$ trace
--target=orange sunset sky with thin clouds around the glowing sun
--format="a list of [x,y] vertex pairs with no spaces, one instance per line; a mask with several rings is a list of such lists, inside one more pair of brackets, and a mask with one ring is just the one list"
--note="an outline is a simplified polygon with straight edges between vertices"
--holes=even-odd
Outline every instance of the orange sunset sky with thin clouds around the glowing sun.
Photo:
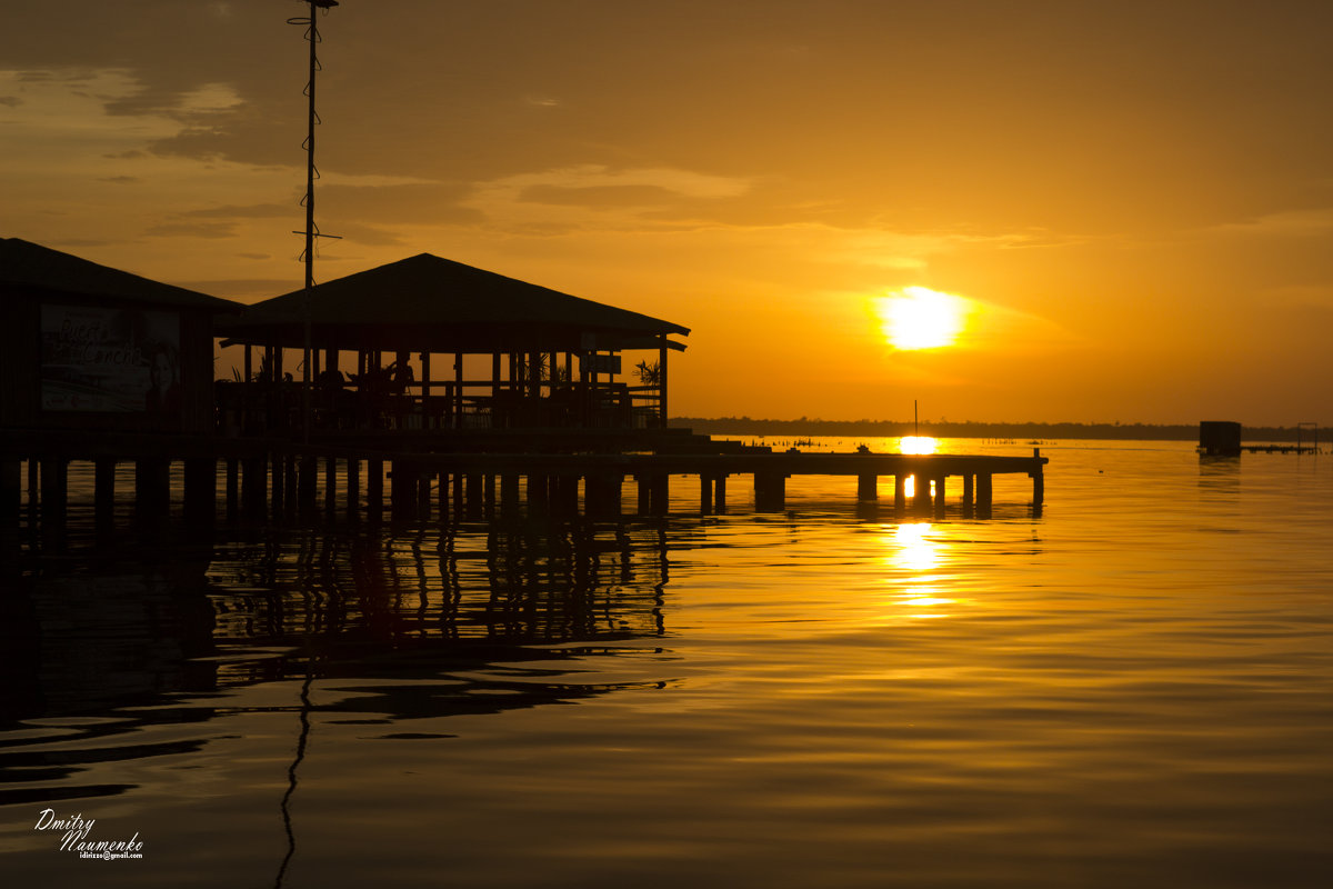
[[[243,301],[300,287],[304,11],[7,4],[0,236]],[[319,24],[343,236],[319,280],[431,252],[682,324],[674,415],[1333,421],[1333,4]],[[954,308],[948,344],[894,341],[913,295]]]

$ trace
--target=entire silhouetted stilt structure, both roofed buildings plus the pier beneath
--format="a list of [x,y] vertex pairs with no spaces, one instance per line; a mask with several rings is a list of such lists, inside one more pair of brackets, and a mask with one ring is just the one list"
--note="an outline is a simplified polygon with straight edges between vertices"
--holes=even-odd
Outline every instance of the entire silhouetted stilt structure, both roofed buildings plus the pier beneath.
[[[964,514],[986,516],[992,477],[1021,473],[1042,504],[1036,452],[772,453],[668,428],[668,359],[688,328],[431,255],[319,285],[308,304],[297,291],[241,307],[25,241],[4,249],[7,553],[24,514],[43,529],[31,540],[59,536],[71,462],[93,466],[105,528],[117,465],[133,465],[148,529],[173,514],[185,529],[220,516],[615,517],[631,510],[631,478],[632,512],[663,514],[670,476],[698,480],[702,513],[728,508],[733,476],[753,478],[757,510],[784,509],[797,474],[856,476],[862,502],[893,476],[897,510],[936,516],[954,477]],[[307,329],[308,388],[292,360]],[[212,380],[215,339],[243,349],[232,380]]]

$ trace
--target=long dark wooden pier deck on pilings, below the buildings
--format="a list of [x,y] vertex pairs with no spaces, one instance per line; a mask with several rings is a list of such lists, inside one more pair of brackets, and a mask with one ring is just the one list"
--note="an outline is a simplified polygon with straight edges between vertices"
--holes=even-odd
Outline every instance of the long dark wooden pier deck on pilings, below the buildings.
[[[0,525],[8,541],[19,540],[25,513],[29,529],[40,526],[40,538],[59,537],[71,505],[69,466],[75,462],[91,464],[99,530],[111,529],[117,502],[129,498],[116,484],[117,466],[131,464],[135,524],[148,530],[171,524],[189,532],[209,529],[219,518],[229,524],[288,517],[480,520],[520,506],[592,518],[661,516],[668,512],[672,476],[697,480],[698,514],[726,512],[740,486],[730,484],[736,478],[750,482],[756,512],[782,512],[789,478],[848,476],[857,480],[848,493],[858,502],[877,501],[880,478],[892,477],[893,506],[900,513],[942,517],[946,498],[957,490],[962,514],[984,518],[992,509],[993,477],[1020,473],[1032,480],[1030,502],[1040,514],[1046,458],[1038,450],[1028,457],[744,448],[733,453],[437,453],[263,439],[31,432],[9,435],[0,445]],[[635,497],[628,504],[627,482]],[[87,498],[88,492],[81,496]]]

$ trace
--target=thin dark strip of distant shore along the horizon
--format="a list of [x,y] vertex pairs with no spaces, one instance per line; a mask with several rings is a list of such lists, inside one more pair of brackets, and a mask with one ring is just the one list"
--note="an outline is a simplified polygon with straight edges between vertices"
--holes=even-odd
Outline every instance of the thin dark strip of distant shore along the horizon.
[[[892,439],[913,435],[912,423],[890,420],[754,420],[750,417],[672,417],[673,428],[701,435],[742,436],[844,436]],[[1125,441],[1198,441],[1198,424],[1148,423],[922,423],[921,435],[936,439],[1101,439]],[[1316,431],[1302,428],[1300,437],[1313,440]],[[1244,441],[1296,441],[1294,427],[1242,427]],[[1320,441],[1333,441],[1333,429],[1318,429]]]

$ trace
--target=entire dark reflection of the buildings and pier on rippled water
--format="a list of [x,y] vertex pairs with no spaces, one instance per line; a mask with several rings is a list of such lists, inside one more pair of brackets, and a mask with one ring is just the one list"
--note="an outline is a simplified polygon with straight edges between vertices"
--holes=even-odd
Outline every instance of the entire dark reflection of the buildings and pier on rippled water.
[[[293,692],[259,709],[431,738],[449,734],[404,721],[657,684],[584,682],[563,665],[665,632],[661,522],[288,529],[173,554],[81,554],[7,586],[0,725],[28,728],[0,750],[0,805],[127,793],[107,764],[225,746],[205,724],[244,710],[217,697],[228,688],[313,681],[313,702]],[[185,724],[199,729],[183,737]],[[153,740],[159,725],[171,741]]]

